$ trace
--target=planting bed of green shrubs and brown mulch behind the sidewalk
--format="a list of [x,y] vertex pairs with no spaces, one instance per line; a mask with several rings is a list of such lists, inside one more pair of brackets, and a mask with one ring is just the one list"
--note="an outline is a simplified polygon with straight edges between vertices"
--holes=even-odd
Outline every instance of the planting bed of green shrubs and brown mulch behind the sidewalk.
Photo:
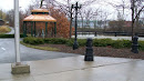
[[[56,48],[60,52],[68,53],[85,53],[86,39],[78,39],[79,49],[73,50],[74,39],[62,39],[62,38],[24,38],[23,42],[37,47],[51,47]],[[93,39],[93,53],[100,57],[116,57],[116,58],[133,58],[144,59],[144,41],[138,41],[138,53],[131,52],[130,40],[111,40],[111,39]]]

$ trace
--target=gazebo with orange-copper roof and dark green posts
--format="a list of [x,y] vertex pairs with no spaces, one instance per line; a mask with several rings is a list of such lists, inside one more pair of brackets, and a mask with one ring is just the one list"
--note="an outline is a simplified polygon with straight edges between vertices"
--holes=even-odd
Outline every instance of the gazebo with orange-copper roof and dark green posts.
[[[27,37],[28,24],[31,27],[31,37],[35,37],[38,34],[37,29],[41,28],[38,27],[40,22],[44,26],[42,29],[45,29],[45,37],[48,37],[48,30],[51,31],[54,37],[56,36],[56,20],[49,14],[47,9],[34,9],[31,10],[31,16],[23,19],[23,37]],[[54,23],[54,26],[51,29],[48,29],[48,23]]]

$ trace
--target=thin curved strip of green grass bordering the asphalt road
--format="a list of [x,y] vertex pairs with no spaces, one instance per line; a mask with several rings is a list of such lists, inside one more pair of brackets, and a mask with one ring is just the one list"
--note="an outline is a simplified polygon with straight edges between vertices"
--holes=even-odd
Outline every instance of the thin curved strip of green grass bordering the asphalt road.
[[20,43],[28,47],[28,48],[33,48],[33,49],[39,49],[39,50],[47,50],[47,51],[59,51],[59,49],[56,49],[56,48],[31,45],[31,44],[27,44],[27,43],[24,43],[22,41],[20,41]]

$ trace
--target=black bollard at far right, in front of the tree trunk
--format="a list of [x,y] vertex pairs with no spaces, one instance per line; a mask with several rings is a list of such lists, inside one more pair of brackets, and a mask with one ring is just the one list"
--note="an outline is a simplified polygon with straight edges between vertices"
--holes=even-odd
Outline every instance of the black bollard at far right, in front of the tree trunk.
[[133,37],[133,43],[132,43],[132,50],[131,51],[134,52],[134,53],[138,53],[138,37],[137,37],[137,34],[135,34]]

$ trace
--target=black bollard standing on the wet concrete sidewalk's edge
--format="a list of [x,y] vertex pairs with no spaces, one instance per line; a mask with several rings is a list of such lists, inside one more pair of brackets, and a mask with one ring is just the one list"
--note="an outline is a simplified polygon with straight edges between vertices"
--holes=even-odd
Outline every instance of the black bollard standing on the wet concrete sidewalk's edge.
[[88,38],[84,61],[93,61],[92,39]]

